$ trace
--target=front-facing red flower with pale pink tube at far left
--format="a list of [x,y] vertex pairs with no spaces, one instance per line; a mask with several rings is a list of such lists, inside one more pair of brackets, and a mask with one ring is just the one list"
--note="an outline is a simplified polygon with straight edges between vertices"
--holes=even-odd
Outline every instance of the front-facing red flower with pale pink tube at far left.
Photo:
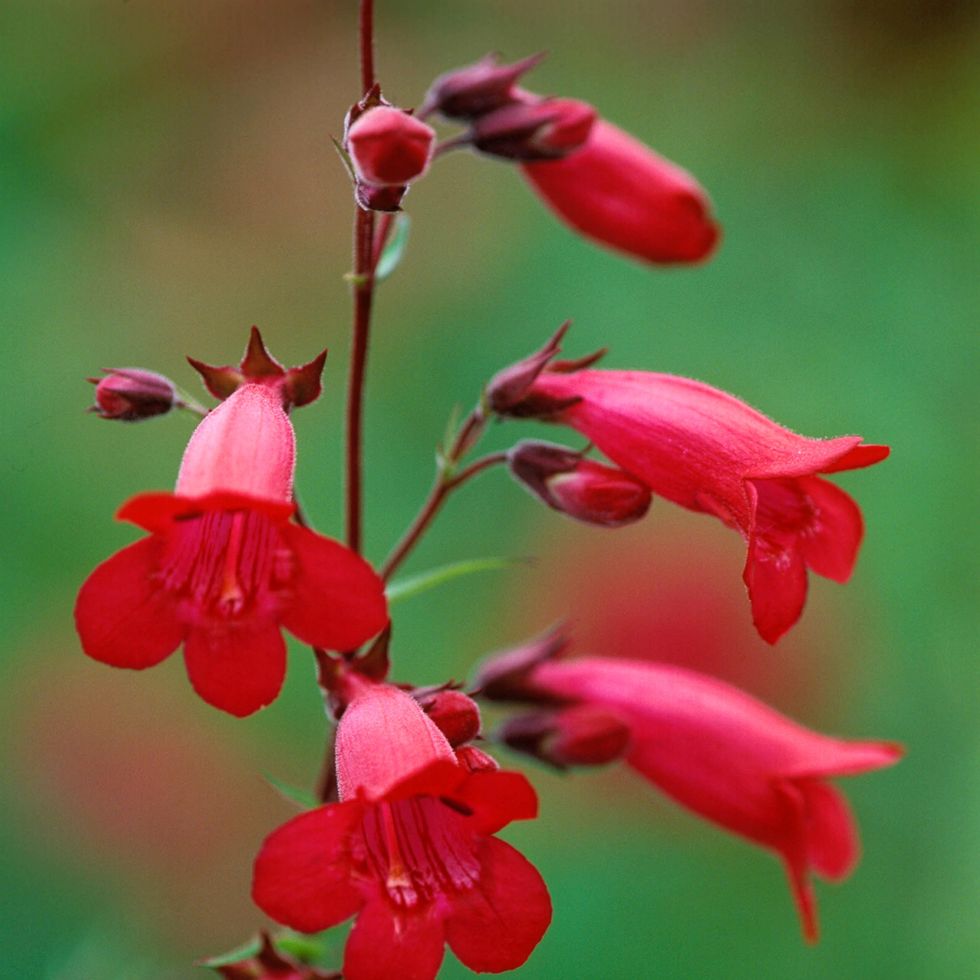
[[119,519],[150,537],[82,585],[75,624],[90,657],[142,669],[183,643],[198,694],[244,716],[282,686],[280,627],[329,649],[384,627],[384,586],[371,567],[289,523],[295,444],[282,406],[277,384],[242,384],[194,431],[176,492],[123,505]]

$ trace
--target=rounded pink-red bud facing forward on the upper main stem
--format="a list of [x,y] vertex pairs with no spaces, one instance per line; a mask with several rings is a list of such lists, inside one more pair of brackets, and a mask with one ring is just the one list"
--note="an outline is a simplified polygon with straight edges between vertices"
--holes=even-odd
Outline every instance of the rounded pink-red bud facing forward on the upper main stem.
[[431,126],[409,113],[378,105],[351,123],[347,152],[361,181],[375,187],[397,187],[425,173],[435,138]]

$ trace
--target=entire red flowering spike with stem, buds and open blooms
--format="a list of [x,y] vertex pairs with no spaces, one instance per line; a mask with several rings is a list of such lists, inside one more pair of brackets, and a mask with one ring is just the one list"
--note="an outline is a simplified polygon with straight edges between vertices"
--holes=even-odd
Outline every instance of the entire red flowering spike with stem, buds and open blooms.
[[[861,511],[827,477],[878,463],[889,450],[856,435],[797,435],[700,381],[597,367],[602,351],[560,360],[565,324],[493,375],[476,408],[450,427],[430,497],[376,571],[360,554],[373,290],[404,248],[402,241],[392,254],[391,212],[441,154],[469,147],[514,165],[566,224],[646,262],[701,261],[719,230],[706,193],[684,170],[591,105],[520,87],[539,56],[513,64],[489,56],[447,72],[414,112],[382,95],[370,40],[362,38],[363,95],[338,143],[356,204],[347,544],[308,526],[293,486],[290,413],[320,395],[325,351],[287,370],[253,328],[240,363],[191,359],[218,402],[210,410],[155,372],[105,371],[91,379],[93,411],[103,418],[137,421],[178,409],[202,418],[174,492],[143,493],[119,510],[147,536],[82,585],[75,606],[82,648],[103,663],[143,669],[183,646],[197,694],[236,716],[278,695],[283,630],[312,648],[335,725],[319,804],[266,838],[252,896],[271,919],[300,932],[354,919],[347,980],[432,980],[446,946],[476,972],[512,970],[541,940],[551,920],[547,888],[497,836],[536,818],[538,801],[523,775],[500,769],[487,751],[494,745],[563,770],[622,760],[683,807],[774,852],[804,935],[815,941],[811,875],[840,880],[858,858],[855,819],[829,780],[891,765],[897,746],[818,734],[680,667],[602,650],[569,657],[561,631],[487,659],[466,690],[396,684],[388,601],[400,583],[388,580],[446,497],[500,464],[551,510],[604,532],[645,518],[656,498],[718,518],[745,541],[752,621],[775,643],[802,614],[809,571],[845,582],[857,560]],[[438,142],[427,122],[433,116],[465,128]],[[376,212],[384,212],[377,224]],[[504,419],[549,423],[588,445],[522,439],[469,460],[490,422]],[[439,570],[409,584],[419,591],[457,573]],[[648,639],[638,637],[638,646]],[[503,713],[489,733],[480,700]],[[241,956],[205,965],[236,978],[338,975],[265,934]]]

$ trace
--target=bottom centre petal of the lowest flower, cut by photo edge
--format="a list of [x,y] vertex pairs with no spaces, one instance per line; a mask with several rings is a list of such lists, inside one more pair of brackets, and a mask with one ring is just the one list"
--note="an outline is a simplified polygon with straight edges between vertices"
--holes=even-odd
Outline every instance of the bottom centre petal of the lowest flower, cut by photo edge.
[[345,980],[433,980],[445,954],[432,905],[396,912],[376,896],[365,905],[344,952]]

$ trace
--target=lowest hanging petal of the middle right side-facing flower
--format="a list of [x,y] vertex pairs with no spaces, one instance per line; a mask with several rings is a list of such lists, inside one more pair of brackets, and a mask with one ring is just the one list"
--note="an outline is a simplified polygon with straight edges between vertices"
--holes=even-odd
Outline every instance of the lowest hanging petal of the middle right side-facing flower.
[[806,602],[806,563],[796,535],[753,535],[742,580],[755,628],[767,643],[775,643],[800,618]]

